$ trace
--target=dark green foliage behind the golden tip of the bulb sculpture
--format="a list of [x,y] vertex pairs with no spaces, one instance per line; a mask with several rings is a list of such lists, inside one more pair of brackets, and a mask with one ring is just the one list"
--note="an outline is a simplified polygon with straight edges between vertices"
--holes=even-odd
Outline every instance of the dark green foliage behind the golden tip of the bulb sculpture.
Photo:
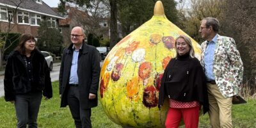
[[[163,0],[166,17],[172,22],[177,21],[176,3],[173,0]],[[118,3],[118,17],[122,23],[122,32],[128,35],[154,15],[156,1],[126,0]]]

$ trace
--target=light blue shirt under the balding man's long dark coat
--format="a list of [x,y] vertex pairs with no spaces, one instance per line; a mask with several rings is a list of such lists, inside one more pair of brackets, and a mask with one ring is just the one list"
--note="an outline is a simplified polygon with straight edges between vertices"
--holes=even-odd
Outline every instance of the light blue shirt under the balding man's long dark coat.
[[71,70],[70,70],[69,84],[78,84],[77,62],[78,62],[79,50],[76,50],[74,48],[74,45],[73,45],[73,49],[74,49],[74,52],[73,52]]

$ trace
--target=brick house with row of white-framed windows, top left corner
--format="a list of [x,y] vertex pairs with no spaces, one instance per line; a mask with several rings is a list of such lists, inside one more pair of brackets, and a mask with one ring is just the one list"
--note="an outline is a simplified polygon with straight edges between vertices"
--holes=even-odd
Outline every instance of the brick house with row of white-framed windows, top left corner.
[[42,0],[0,0],[0,32],[2,33],[8,31],[10,21],[10,33],[31,33],[37,37],[40,22],[47,20],[51,28],[58,28],[60,19],[64,18]]

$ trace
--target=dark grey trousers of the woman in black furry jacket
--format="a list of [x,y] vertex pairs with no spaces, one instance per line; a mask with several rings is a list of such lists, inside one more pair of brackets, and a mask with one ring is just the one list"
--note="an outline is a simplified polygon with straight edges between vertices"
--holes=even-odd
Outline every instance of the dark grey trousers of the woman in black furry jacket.
[[42,92],[31,92],[15,96],[15,111],[17,116],[17,127],[37,127],[37,115],[42,100]]

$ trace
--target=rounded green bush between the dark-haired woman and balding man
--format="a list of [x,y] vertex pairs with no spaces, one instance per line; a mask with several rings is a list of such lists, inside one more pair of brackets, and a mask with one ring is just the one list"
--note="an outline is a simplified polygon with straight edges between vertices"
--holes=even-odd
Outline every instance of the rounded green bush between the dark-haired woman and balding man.
[[41,51],[49,51],[56,56],[61,56],[63,36],[56,28],[47,27],[47,22],[41,22],[38,28],[37,47]]

